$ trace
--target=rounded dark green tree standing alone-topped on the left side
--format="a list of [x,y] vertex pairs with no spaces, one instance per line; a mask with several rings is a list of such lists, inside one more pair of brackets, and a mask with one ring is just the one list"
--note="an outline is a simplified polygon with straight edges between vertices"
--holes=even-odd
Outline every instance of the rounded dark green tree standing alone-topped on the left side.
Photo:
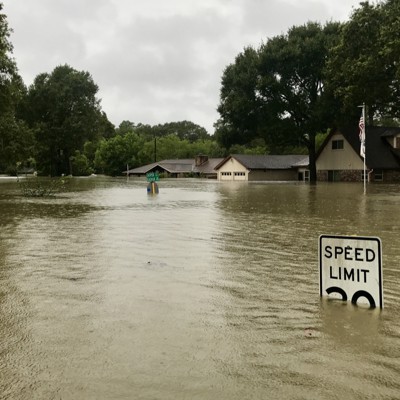
[[96,98],[98,87],[88,72],[68,65],[38,75],[26,96],[24,115],[35,130],[41,171],[69,173],[70,157],[110,130]]

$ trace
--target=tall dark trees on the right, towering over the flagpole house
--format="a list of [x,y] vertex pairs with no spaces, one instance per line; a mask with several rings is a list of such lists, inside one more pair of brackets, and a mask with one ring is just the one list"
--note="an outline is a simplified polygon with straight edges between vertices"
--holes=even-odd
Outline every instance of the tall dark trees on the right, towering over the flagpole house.
[[319,134],[400,117],[400,1],[362,2],[346,23],[308,22],[247,47],[222,76],[219,143],[264,140],[271,152],[304,146],[316,180]]

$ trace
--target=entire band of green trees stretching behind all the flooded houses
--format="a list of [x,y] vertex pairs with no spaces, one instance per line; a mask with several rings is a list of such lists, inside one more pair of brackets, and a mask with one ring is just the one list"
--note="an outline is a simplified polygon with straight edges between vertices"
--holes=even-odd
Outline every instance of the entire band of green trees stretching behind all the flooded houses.
[[89,72],[59,65],[26,87],[12,57],[0,3],[0,173],[119,175],[161,159],[229,153],[308,153],[329,129],[400,117],[400,2],[362,2],[345,23],[308,22],[246,47],[222,74],[219,119],[210,135],[190,121],[155,126],[102,110]]

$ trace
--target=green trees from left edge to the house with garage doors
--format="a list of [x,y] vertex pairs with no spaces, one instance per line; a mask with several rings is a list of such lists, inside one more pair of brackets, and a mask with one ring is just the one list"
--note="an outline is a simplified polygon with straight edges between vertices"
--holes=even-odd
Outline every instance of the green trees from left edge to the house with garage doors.
[[125,120],[115,127],[90,73],[69,65],[39,74],[26,87],[1,10],[0,3],[0,173],[120,175],[127,165],[156,159],[224,154],[205,128],[190,121],[151,126]]

